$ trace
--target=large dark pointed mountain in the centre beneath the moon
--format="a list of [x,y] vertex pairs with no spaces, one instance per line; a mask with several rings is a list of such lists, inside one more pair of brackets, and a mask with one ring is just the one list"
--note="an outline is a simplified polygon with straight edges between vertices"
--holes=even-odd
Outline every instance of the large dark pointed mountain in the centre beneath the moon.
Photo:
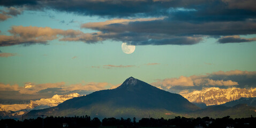
[[57,107],[32,110],[29,115],[92,117],[174,117],[176,113],[198,110],[182,95],[170,93],[133,77],[112,90],[101,90],[66,100]]

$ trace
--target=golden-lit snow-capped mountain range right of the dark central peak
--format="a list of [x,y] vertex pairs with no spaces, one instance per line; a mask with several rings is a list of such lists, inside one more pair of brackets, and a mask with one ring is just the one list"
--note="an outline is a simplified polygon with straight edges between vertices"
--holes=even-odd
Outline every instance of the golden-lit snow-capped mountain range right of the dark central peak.
[[255,89],[240,89],[232,87],[230,89],[220,89],[219,87],[209,87],[201,91],[193,91],[191,93],[180,94],[190,102],[203,102],[207,106],[221,105],[223,103],[240,99],[242,97],[256,97]]

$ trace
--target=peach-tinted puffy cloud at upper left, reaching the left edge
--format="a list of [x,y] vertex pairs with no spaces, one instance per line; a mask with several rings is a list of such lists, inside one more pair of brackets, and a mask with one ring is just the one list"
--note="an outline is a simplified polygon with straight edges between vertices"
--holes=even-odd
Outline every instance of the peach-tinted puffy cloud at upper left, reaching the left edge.
[[85,43],[102,41],[95,33],[86,34],[80,30],[62,30],[50,27],[12,26],[9,33],[11,36],[0,35],[0,46],[47,44],[48,41],[57,38],[59,38],[59,41],[81,41]]

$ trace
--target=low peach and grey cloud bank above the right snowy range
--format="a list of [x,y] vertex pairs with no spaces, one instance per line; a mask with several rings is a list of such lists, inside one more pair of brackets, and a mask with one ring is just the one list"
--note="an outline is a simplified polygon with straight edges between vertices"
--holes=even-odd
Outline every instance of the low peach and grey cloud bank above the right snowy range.
[[161,87],[164,90],[179,93],[182,91],[191,92],[201,90],[204,87],[228,87],[255,88],[256,71],[217,71],[206,75],[192,75],[189,77],[159,79],[152,85]]

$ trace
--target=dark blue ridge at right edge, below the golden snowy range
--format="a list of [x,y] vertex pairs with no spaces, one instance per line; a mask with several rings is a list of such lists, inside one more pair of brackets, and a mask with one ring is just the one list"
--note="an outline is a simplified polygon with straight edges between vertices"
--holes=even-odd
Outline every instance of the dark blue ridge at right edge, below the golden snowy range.
[[232,107],[232,106],[236,106],[239,104],[246,104],[248,106],[256,107],[256,97],[255,98],[240,98],[238,100],[226,102],[223,104],[223,106]]

